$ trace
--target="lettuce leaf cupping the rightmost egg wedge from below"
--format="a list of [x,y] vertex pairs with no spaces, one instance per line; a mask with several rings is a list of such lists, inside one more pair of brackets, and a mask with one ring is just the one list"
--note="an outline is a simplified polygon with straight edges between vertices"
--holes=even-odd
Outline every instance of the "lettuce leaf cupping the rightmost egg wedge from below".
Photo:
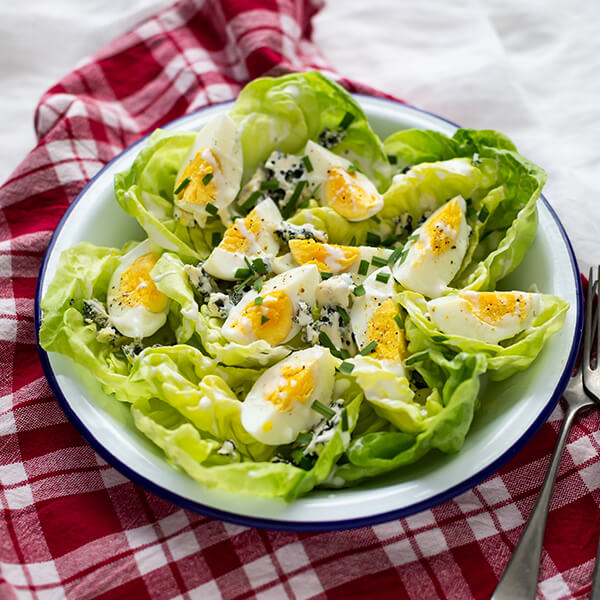
[[[546,340],[556,333],[565,321],[568,302],[551,294],[541,295],[539,313],[530,327],[501,344],[488,344],[458,335],[441,332],[427,318],[427,302],[414,292],[398,294],[398,301],[408,313],[405,321],[406,337],[411,352],[429,351],[432,348],[451,348],[455,352],[467,352],[485,357],[491,380],[506,379],[526,369],[540,353]],[[443,342],[434,341],[442,336]]]

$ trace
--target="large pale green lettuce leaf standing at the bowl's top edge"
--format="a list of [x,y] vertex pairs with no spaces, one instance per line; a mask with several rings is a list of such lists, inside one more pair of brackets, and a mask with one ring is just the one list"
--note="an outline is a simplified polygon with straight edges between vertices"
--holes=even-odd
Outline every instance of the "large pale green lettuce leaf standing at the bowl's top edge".
[[230,115],[241,131],[244,180],[273,150],[298,153],[324,129],[338,130],[346,114],[352,121],[332,151],[355,163],[380,191],[386,189],[390,165],[381,140],[358,102],[317,71],[262,77],[240,92]]

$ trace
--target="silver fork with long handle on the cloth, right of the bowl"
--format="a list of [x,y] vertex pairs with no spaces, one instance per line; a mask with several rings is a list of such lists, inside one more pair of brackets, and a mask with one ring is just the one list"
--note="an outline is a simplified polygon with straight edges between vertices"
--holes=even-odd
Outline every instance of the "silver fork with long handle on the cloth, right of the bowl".
[[[600,277],[600,267],[598,267],[598,277]],[[585,307],[583,354],[577,372],[569,380],[567,389],[563,394],[563,398],[567,401],[567,410],[556,448],[552,454],[550,467],[546,473],[542,490],[523,531],[523,535],[492,595],[492,600],[535,598],[540,571],[542,543],[546,529],[546,517],[548,516],[548,508],[552,499],[554,480],[560,466],[560,459],[565,443],[569,437],[571,425],[580,410],[596,404],[600,406],[600,370],[598,368],[592,369],[591,359],[594,330],[600,332],[598,310],[594,311],[592,307],[594,294],[598,287],[598,277],[594,279],[593,269],[590,269]],[[598,353],[600,350],[600,335],[596,335],[596,338],[596,353]],[[596,564],[594,572],[595,581],[592,586],[593,600],[600,600],[599,570],[600,567]],[[594,590],[596,590],[597,596],[594,596]]]

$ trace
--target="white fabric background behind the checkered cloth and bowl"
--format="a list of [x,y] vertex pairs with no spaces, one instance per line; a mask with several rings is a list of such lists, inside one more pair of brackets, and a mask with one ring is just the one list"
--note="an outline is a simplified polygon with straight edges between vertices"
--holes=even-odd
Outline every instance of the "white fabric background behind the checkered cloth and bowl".
[[[40,95],[169,3],[0,3],[0,181],[35,143]],[[548,172],[580,267],[600,262],[600,2],[328,0],[315,40],[347,77],[509,135]]]

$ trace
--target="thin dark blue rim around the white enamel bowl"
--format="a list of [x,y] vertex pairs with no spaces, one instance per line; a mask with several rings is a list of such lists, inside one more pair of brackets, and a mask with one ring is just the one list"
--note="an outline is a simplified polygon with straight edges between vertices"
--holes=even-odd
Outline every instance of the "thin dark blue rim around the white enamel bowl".
[[[456,123],[453,123],[449,119],[446,119],[446,118],[441,117],[433,112],[430,112],[430,111],[422,109],[422,108],[418,108],[416,106],[413,106],[413,105],[405,103],[405,102],[396,102],[389,98],[380,98],[380,97],[376,97],[376,96],[369,96],[366,94],[352,94],[352,95],[354,97],[366,98],[369,100],[388,102],[392,105],[400,105],[400,106],[403,106],[410,110],[414,110],[416,112],[429,115],[431,117],[439,119],[440,121],[444,121],[444,122],[452,125],[453,127],[459,127]],[[232,100],[227,100],[225,102],[215,103],[215,104],[211,104],[209,106],[205,106],[197,111],[194,111],[192,113],[189,113],[189,114],[183,115],[182,117],[174,119],[173,121],[170,121],[169,123],[165,124],[165,126],[174,125],[181,120],[189,118],[191,115],[198,114],[209,108],[224,106],[224,105],[232,104],[232,103],[233,103]],[[108,448],[106,446],[104,446],[100,441],[98,441],[96,439],[94,434],[84,425],[84,423],[81,421],[81,419],[73,411],[73,409],[69,405],[67,398],[63,394],[63,392],[60,388],[60,385],[58,384],[58,381],[52,370],[52,366],[50,365],[50,359],[48,357],[48,353],[40,346],[39,328],[40,328],[40,324],[41,324],[41,320],[42,320],[41,285],[42,285],[42,281],[44,280],[44,277],[46,274],[46,269],[48,267],[48,262],[49,262],[51,254],[52,254],[52,250],[54,248],[56,240],[58,238],[58,235],[60,234],[62,228],[65,226],[65,224],[69,218],[69,215],[70,215],[71,211],[74,209],[74,207],[76,206],[76,204],[78,202],[80,202],[81,199],[85,196],[88,188],[96,181],[96,179],[98,179],[104,173],[104,171],[106,169],[108,169],[118,158],[120,158],[121,155],[132,150],[136,146],[143,144],[144,141],[146,141],[150,135],[151,134],[149,133],[149,134],[143,136],[137,142],[134,142],[133,144],[131,144],[130,146],[125,148],[122,152],[117,154],[110,162],[108,162],[106,165],[104,165],[104,167],[102,167],[102,169],[100,169],[100,171],[98,171],[98,173],[96,173],[96,175],[94,175],[94,177],[84,186],[84,188],[81,190],[81,192],[79,192],[77,197],[70,204],[70,206],[66,210],[65,214],[62,216],[61,220],[59,221],[59,223],[56,227],[56,230],[52,234],[52,237],[50,238],[50,242],[48,244],[48,248],[46,249],[46,252],[44,254],[44,258],[42,260],[42,265],[40,267],[38,281],[36,284],[35,303],[34,303],[34,327],[35,327],[35,337],[36,337],[36,345],[37,345],[37,349],[38,349],[38,354],[39,354],[40,362],[42,364],[42,369],[44,371],[44,375],[46,376],[48,384],[50,385],[50,389],[52,390],[54,396],[56,397],[56,400],[57,400],[59,406],[61,407],[61,409],[63,410],[63,412],[69,419],[69,421],[71,422],[71,424],[75,427],[75,429],[79,432],[79,434],[86,440],[86,442],[94,449],[94,451],[96,451],[108,464],[110,464],[112,467],[117,469],[121,474],[123,474],[125,477],[130,479],[133,483],[142,486],[143,488],[152,492],[153,494],[156,494],[160,498],[162,498],[164,500],[168,500],[169,502],[172,502],[173,504],[180,506],[184,509],[191,510],[195,513],[199,513],[199,514],[202,514],[204,516],[207,516],[207,517],[210,517],[213,519],[219,519],[221,521],[234,523],[236,525],[243,525],[246,527],[258,527],[261,529],[269,529],[269,530],[276,530],[276,531],[295,531],[295,532],[323,532],[323,531],[356,529],[356,528],[360,528],[360,527],[377,525],[379,523],[384,523],[387,521],[392,521],[394,519],[400,519],[400,518],[404,518],[404,517],[416,514],[418,512],[427,510],[429,508],[433,508],[434,506],[437,506],[439,504],[442,504],[443,502],[451,500],[452,498],[458,496],[462,492],[464,492],[468,489],[471,489],[475,485],[481,483],[488,476],[490,476],[493,473],[495,473],[496,471],[498,471],[509,460],[514,458],[523,449],[523,447],[531,440],[531,438],[538,432],[538,430],[541,428],[541,426],[546,422],[546,420],[548,419],[548,417],[554,410],[554,407],[560,400],[560,398],[567,386],[568,380],[571,376],[571,372],[573,371],[573,367],[575,365],[575,360],[577,358],[577,354],[579,352],[579,345],[581,343],[581,336],[582,336],[582,331],[583,331],[583,288],[582,288],[582,283],[581,283],[580,271],[579,271],[579,267],[577,264],[577,259],[575,257],[575,252],[573,251],[573,246],[571,245],[571,241],[569,240],[569,236],[567,235],[567,232],[566,232],[563,224],[561,223],[560,219],[558,218],[558,215],[556,214],[556,212],[554,211],[554,209],[552,208],[552,206],[550,205],[550,203],[548,202],[546,197],[543,194],[541,194],[540,199],[542,200],[542,202],[548,209],[550,215],[556,222],[556,225],[558,226],[561,236],[566,243],[567,250],[569,253],[569,258],[571,261],[571,267],[572,267],[573,274],[574,274],[576,294],[577,294],[577,306],[576,306],[577,314],[576,314],[576,323],[575,323],[575,335],[573,338],[573,342],[571,344],[569,358],[565,362],[565,367],[564,367],[563,373],[558,381],[558,384],[554,390],[554,393],[552,394],[552,396],[546,403],[545,408],[540,412],[537,419],[523,433],[523,435],[517,440],[517,442],[515,442],[508,450],[506,450],[506,452],[504,452],[502,455],[500,455],[496,460],[494,460],[492,463],[490,463],[487,467],[479,470],[477,473],[471,475],[470,477],[461,481],[460,483],[456,484],[455,486],[448,488],[444,492],[441,492],[439,494],[436,494],[435,496],[431,496],[430,498],[427,498],[426,500],[423,500],[421,502],[416,502],[414,504],[405,506],[400,509],[387,511],[387,512],[379,513],[376,515],[370,515],[368,517],[360,517],[360,518],[356,518],[356,519],[318,521],[318,522],[280,521],[277,519],[264,519],[264,518],[260,518],[260,517],[249,517],[249,516],[239,515],[236,513],[231,513],[228,511],[219,510],[219,509],[216,509],[216,508],[213,508],[210,506],[206,506],[200,502],[195,502],[193,500],[189,500],[188,498],[180,496],[179,494],[176,494],[176,493],[156,484],[151,479],[148,479],[147,477],[140,475],[137,471],[134,471],[131,467],[129,467],[127,464],[125,464],[119,458],[117,458],[114,454],[112,454],[112,452],[110,452],[110,450],[108,450]]]

